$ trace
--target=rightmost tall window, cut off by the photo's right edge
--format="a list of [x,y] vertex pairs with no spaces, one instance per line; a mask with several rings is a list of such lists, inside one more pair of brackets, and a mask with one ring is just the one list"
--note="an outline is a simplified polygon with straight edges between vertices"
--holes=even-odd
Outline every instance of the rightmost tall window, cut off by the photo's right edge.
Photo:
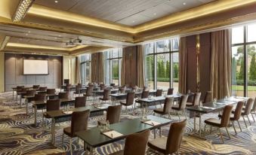
[[256,94],[256,23],[232,29],[232,94]]

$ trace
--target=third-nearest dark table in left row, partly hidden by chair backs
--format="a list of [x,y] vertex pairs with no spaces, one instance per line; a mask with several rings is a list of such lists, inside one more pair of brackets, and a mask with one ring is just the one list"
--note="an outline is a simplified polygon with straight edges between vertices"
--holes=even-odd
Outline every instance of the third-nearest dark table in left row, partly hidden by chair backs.
[[[73,105],[74,103],[75,103],[75,99],[60,99],[60,106],[61,105]],[[32,101],[32,107],[34,108],[34,117],[35,117],[34,124],[35,124],[35,126],[37,126],[37,109],[45,108],[46,101]]]

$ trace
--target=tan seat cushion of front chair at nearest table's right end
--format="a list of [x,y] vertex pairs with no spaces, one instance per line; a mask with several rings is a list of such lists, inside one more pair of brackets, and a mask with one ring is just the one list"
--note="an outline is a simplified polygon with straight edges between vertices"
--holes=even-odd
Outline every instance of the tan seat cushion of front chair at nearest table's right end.
[[161,137],[153,139],[147,143],[147,146],[153,150],[157,150],[160,153],[165,153],[166,150],[167,137]]

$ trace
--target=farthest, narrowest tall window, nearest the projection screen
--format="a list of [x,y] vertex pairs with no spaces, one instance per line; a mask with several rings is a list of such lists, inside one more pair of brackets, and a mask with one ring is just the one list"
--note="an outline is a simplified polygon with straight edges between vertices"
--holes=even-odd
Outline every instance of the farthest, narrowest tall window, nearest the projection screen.
[[91,78],[91,54],[80,56],[81,83],[88,84]]

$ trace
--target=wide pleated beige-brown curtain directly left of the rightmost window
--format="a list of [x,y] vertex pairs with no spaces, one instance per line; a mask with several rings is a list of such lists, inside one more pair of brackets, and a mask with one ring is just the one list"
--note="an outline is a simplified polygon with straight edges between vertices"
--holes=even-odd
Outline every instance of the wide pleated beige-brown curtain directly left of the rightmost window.
[[211,33],[211,92],[221,99],[231,93],[230,29]]

